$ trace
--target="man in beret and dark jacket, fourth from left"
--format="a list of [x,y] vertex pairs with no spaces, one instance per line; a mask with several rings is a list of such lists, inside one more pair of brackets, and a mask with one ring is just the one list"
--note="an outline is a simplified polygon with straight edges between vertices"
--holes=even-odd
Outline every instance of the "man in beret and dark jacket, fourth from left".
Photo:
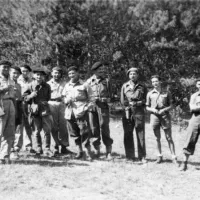
[[51,88],[45,83],[44,70],[37,68],[34,71],[35,80],[32,81],[24,92],[24,100],[30,103],[29,116],[30,124],[33,127],[34,137],[36,138],[36,154],[43,153],[41,131],[44,132],[44,155],[52,156],[50,151],[52,116],[48,101],[51,99]]

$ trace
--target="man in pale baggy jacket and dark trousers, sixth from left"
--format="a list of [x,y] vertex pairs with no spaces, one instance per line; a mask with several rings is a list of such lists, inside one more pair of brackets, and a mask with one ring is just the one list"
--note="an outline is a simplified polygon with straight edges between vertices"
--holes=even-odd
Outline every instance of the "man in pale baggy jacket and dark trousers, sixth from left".
[[84,143],[86,158],[91,160],[88,89],[80,80],[76,66],[69,67],[68,76],[70,81],[65,85],[62,92],[66,104],[65,119],[67,120],[67,129],[70,136],[75,138],[75,143],[78,146],[78,154],[75,158],[83,158],[82,145]]

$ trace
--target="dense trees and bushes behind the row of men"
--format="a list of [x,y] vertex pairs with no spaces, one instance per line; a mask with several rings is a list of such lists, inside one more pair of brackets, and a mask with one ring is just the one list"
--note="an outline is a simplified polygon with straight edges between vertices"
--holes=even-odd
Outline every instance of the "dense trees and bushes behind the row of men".
[[200,75],[198,1],[0,0],[0,57],[15,65],[77,64],[90,76],[98,60],[110,63],[115,92],[135,66],[141,80],[159,74],[184,105],[193,87],[183,78]]

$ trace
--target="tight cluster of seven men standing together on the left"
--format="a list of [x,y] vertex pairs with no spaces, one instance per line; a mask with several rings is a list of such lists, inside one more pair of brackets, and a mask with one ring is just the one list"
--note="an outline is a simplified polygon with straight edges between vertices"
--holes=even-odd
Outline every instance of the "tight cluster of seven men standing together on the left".
[[[62,78],[62,69],[54,67],[52,78],[46,82],[46,73],[41,68],[34,69],[30,77],[32,70],[28,65],[19,68],[8,61],[0,62],[0,162],[9,163],[11,152],[17,157],[23,143],[27,151],[37,155],[71,153],[67,149],[69,135],[75,138],[78,147],[75,158],[85,156],[83,145],[87,159],[92,159],[91,145],[99,157],[102,138],[106,158],[111,159],[113,140],[108,107],[111,88],[105,78],[106,68],[101,62],[95,63],[93,76],[84,83],[76,66],[68,68],[69,82]],[[55,142],[53,151],[50,150],[51,135]]]

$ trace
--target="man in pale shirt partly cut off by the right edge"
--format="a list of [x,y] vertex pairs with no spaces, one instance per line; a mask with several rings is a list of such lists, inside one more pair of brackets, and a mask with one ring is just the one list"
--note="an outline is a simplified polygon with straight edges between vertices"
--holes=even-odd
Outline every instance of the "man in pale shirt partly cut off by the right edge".
[[184,162],[181,166],[181,170],[187,170],[188,159],[194,154],[196,143],[200,134],[200,79],[196,80],[197,92],[191,95],[190,98],[190,110],[192,112],[192,118],[190,119],[187,129],[187,140],[183,148]]

